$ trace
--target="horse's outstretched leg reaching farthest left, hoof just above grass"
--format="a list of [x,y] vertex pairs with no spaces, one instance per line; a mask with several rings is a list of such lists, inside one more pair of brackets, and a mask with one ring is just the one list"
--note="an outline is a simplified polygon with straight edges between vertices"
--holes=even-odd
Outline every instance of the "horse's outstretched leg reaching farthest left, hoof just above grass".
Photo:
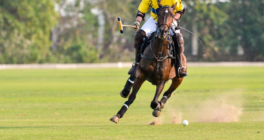
[[119,112],[117,112],[116,115],[114,115],[110,120],[112,122],[118,123],[119,119],[123,117],[125,112],[128,110],[129,106],[134,102],[136,99],[136,94],[138,93],[139,88],[144,83],[145,79],[137,79],[133,85],[132,92],[130,96],[128,97],[128,100],[125,102],[125,104],[121,107]]

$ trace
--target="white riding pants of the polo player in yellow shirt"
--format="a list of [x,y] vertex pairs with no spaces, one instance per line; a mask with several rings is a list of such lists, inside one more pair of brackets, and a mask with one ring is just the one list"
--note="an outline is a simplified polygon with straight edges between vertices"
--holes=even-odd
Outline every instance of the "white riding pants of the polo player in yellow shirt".
[[[172,23],[172,28],[174,29],[177,26],[177,21],[174,21],[174,24]],[[144,30],[146,32],[147,37],[150,36],[151,33],[156,31],[157,27],[157,21],[153,19],[153,17],[150,17],[148,21],[144,23],[144,25],[141,27],[141,30]],[[173,32],[169,30],[169,33],[171,36],[173,36]],[[180,30],[176,30],[176,33],[180,33]]]

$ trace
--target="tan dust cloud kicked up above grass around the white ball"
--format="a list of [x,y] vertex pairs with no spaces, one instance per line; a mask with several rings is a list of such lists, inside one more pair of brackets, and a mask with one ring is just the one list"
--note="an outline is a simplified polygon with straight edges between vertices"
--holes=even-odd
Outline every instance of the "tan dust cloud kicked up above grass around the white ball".
[[237,122],[243,110],[240,96],[234,94],[197,100],[192,105],[184,104],[184,106],[175,107],[175,104],[180,103],[166,103],[161,116],[153,117],[149,125],[181,124],[183,117],[189,122]]

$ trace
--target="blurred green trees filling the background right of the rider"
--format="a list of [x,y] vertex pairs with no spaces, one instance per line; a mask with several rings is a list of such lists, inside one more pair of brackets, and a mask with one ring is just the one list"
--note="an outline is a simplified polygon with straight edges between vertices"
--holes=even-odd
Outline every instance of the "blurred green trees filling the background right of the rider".
[[[204,42],[206,61],[261,61],[263,60],[263,1],[235,0],[230,2],[185,1],[187,13],[181,25],[190,28],[197,24],[198,36]],[[191,9],[191,10],[190,10]],[[184,25],[187,24],[187,25]],[[188,46],[190,38],[185,38]],[[237,55],[241,45],[245,54]],[[191,49],[191,48],[187,48]],[[202,50],[202,49],[201,49]],[[188,54],[187,54],[188,55]]]

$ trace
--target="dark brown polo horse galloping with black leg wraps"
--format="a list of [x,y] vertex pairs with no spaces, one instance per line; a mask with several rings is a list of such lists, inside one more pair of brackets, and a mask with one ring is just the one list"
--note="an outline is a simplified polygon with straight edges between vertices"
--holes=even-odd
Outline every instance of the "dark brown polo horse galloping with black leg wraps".
[[[126,110],[128,110],[129,105],[133,103],[136,98],[141,85],[148,80],[153,85],[156,85],[156,93],[154,99],[152,100],[150,107],[153,109],[152,115],[159,117],[161,114],[161,109],[167,102],[167,99],[171,96],[172,92],[181,84],[183,78],[177,78],[177,70],[175,70],[176,57],[171,55],[171,44],[172,39],[169,35],[169,30],[172,27],[174,12],[173,9],[176,7],[174,4],[170,6],[162,6],[159,4],[158,13],[158,24],[156,37],[151,41],[151,43],[146,47],[145,51],[141,55],[140,60],[136,70],[130,75],[130,78],[126,82],[124,89],[121,91],[120,95],[123,98],[128,97],[128,101],[121,107],[117,115],[114,115],[110,120],[112,122],[118,123],[119,118],[122,118]],[[177,53],[178,57],[181,59],[181,65],[186,67],[186,57],[184,54]],[[154,57],[153,57],[154,56]],[[163,94],[163,97],[158,101],[159,95],[161,94],[165,83],[172,80],[171,86]],[[130,90],[132,88],[132,92]]]

